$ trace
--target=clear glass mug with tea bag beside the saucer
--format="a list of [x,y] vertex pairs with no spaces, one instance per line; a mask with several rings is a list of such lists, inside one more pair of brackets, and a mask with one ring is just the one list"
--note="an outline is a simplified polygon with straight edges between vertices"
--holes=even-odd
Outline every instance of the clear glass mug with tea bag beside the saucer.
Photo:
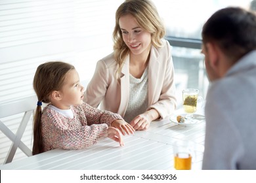
[[198,103],[203,105],[203,97],[198,96],[199,90],[194,88],[186,88],[182,90],[183,109],[187,113],[186,118],[191,120],[194,112],[198,108]]

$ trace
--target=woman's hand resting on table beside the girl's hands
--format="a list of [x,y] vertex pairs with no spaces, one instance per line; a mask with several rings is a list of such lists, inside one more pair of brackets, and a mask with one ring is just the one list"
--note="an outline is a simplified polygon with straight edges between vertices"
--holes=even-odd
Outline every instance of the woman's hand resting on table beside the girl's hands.
[[131,126],[135,130],[146,130],[150,126],[151,121],[146,114],[140,114],[131,121]]

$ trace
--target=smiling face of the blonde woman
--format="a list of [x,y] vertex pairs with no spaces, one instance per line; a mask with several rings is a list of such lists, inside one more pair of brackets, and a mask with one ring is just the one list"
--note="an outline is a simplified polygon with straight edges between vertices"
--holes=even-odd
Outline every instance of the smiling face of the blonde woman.
[[137,20],[131,14],[119,18],[119,26],[123,35],[123,41],[132,54],[148,54],[151,47],[151,33],[142,29]]

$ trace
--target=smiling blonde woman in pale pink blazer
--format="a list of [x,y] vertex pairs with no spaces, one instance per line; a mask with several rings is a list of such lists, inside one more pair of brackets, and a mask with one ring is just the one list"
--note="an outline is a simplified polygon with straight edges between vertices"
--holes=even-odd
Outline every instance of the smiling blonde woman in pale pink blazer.
[[136,130],[175,110],[171,47],[156,7],[124,1],[116,11],[114,52],[96,65],[84,101],[121,114]]

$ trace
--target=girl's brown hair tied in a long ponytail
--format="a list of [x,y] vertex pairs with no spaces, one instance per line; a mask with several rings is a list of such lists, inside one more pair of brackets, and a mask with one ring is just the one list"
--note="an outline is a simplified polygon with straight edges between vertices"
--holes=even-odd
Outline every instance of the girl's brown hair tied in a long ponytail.
[[[68,71],[75,69],[73,65],[62,61],[51,61],[37,67],[33,78],[33,89],[37,94],[39,103],[50,103],[50,95],[53,91],[61,91],[65,76]],[[32,154],[43,152],[41,136],[41,105],[37,105],[33,118],[33,150]]]

